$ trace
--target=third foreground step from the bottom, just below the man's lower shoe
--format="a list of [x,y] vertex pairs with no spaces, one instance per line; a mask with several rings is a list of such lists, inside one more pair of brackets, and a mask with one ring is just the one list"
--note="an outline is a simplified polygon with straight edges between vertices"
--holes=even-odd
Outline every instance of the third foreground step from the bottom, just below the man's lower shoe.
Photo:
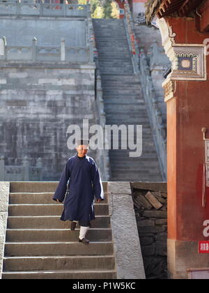
[[[69,232],[70,233],[70,232]],[[91,249],[89,249],[91,248]],[[91,241],[89,246],[76,241],[47,242],[6,242],[6,256],[42,256],[42,255],[112,255],[114,253],[111,241]]]

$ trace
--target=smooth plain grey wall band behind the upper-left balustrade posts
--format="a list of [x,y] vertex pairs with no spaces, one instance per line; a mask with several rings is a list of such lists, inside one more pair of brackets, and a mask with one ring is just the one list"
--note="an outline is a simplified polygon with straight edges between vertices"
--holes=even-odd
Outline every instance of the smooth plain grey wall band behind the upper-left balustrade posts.
[[39,46],[59,46],[61,38],[70,47],[86,46],[86,19],[1,16],[1,35],[8,46],[31,46],[33,37]]

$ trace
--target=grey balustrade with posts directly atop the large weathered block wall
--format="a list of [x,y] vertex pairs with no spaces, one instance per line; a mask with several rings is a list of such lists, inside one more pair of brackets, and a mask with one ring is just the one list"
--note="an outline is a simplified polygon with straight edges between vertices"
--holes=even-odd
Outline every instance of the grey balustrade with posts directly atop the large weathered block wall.
[[65,39],[61,40],[59,47],[37,46],[36,37],[33,38],[32,45],[8,46],[6,38],[0,39],[0,61],[66,61],[88,63],[93,61],[91,44],[86,47],[65,46]]

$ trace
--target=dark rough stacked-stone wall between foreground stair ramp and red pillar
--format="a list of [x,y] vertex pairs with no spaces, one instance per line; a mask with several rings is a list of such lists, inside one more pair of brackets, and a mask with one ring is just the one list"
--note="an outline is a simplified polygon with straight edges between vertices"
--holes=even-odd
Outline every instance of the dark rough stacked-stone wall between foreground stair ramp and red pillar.
[[146,278],[167,278],[167,183],[131,183]]

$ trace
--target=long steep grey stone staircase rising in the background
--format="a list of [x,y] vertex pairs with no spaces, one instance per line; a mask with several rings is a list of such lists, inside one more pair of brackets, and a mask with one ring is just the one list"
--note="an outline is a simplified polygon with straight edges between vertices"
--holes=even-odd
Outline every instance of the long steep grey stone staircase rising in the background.
[[[143,152],[110,150],[110,181],[162,181],[139,77],[134,74],[123,20],[93,20],[106,124],[142,125]],[[120,147],[120,143],[119,143]]]

